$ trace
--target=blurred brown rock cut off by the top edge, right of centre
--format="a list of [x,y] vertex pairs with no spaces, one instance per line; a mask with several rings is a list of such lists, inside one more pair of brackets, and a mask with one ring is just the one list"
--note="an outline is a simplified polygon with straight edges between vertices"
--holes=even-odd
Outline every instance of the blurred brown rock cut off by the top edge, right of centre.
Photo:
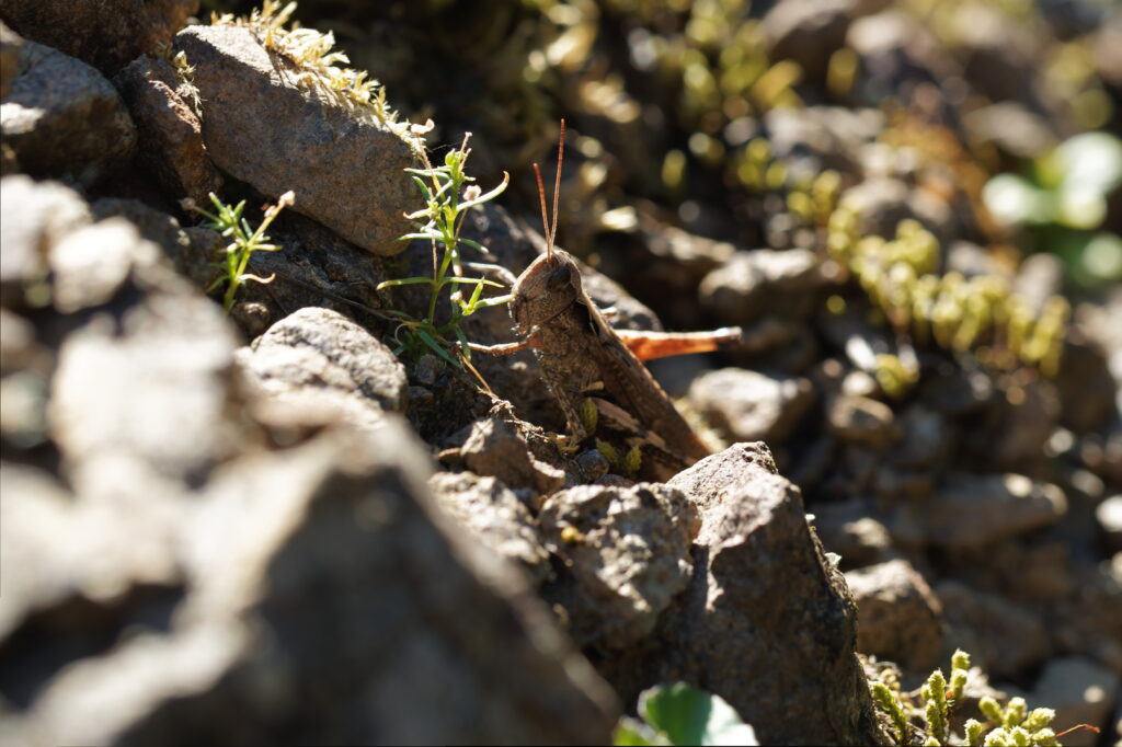
[[763,20],[771,59],[794,59],[811,80],[826,77],[830,55],[845,45],[853,0],[780,0]]

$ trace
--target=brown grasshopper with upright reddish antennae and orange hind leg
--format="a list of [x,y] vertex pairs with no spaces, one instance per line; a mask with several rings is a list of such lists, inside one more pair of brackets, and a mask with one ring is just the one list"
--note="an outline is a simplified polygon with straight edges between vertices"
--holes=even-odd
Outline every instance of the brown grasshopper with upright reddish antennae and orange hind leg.
[[597,422],[620,434],[631,449],[641,450],[640,476],[666,480],[710,452],[642,360],[716,350],[724,342],[739,340],[741,330],[665,333],[611,329],[585,293],[577,260],[553,246],[563,158],[561,120],[552,222],[546,214],[541,169],[534,164],[545,253],[526,268],[512,290],[511,316],[522,340],[472,348],[491,354],[532,348],[542,379],[564,414],[565,444],[576,448],[592,435],[586,427],[587,402],[591,399]]

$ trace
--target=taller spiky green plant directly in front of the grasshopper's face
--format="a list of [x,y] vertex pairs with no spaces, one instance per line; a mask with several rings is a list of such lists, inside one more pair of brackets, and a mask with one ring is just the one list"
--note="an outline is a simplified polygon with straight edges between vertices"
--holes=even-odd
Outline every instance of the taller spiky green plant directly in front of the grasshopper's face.
[[[485,287],[503,286],[485,278],[463,276],[466,266],[477,270],[502,270],[494,265],[466,264],[461,257],[461,247],[471,247],[484,255],[487,253],[487,249],[477,241],[462,238],[460,230],[468,210],[497,197],[506,190],[509,182],[509,176],[504,174],[503,183],[486,194],[472,184],[475,179],[463,170],[471,153],[468,148],[470,137],[469,132],[459,149],[448,153],[443,165],[433,167],[427,156],[422,154],[425,168],[405,169],[413,175],[413,182],[421,191],[425,206],[406,215],[410,220],[423,222],[419,223],[415,232],[406,233],[401,240],[429,240],[432,245],[432,277],[386,280],[377,287],[381,290],[403,285],[427,285],[429,304],[422,319],[415,319],[401,311],[389,312],[401,320],[401,325],[394,335],[397,340],[397,349],[394,352],[415,357],[429,350],[458,368],[462,368],[470,360],[468,340],[460,329],[460,322],[480,308],[499,306],[511,299],[509,295],[484,298]],[[449,297],[451,315],[448,321],[439,322],[438,303],[442,292],[449,286],[456,286]],[[462,290],[465,286],[471,289],[467,299]]]

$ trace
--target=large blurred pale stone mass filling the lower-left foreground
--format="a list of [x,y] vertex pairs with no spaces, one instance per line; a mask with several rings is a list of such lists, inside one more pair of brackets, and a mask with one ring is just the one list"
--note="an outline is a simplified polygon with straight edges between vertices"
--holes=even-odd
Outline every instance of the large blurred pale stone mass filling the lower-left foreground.
[[129,230],[147,249],[82,255],[116,293],[2,317],[4,380],[61,340],[52,471],[7,440],[0,468],[4,744],[606,743],[613,695],[438,508],[399,416],[353,428],[315,400],[342,371],[399,407],[384,351],[306,310],[316,334],[292,322],[258,350],[314,350],[327,381],[279,366],[247,389],[221,308]]

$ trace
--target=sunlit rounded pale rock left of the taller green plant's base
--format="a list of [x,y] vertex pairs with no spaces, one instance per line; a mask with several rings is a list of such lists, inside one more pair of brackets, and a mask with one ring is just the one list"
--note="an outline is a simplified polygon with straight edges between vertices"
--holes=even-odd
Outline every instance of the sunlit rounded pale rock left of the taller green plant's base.
[[405,367],[337,312],[307,307],[277,322],[238,352],[252,387],[287,406],[334,411],[366,428],[405,409]]

